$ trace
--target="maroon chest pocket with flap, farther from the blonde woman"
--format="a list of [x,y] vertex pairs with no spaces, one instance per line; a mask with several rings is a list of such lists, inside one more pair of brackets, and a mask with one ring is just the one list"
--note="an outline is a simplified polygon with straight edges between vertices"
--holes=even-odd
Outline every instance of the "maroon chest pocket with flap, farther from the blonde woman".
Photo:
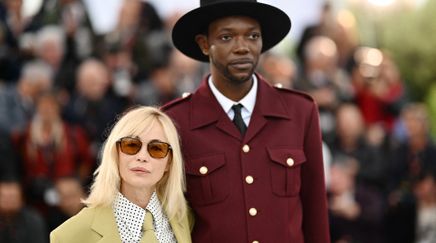
[[302,149],[268,148],[271,159],[272,191],[281,197],[297,196],[301,187],[301,166],[306,162]]

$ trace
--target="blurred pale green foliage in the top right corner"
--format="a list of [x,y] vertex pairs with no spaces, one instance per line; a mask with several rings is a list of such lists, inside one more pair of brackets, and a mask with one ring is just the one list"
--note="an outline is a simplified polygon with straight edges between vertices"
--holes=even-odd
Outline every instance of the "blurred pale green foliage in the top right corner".
[[[358,1],[362,3],[363,1]],[[390,53],[408,88],[410,100],[427,103],[436,138],[436,1],[412,7],[396,0],[390,8],[354,6],[363,45]]]

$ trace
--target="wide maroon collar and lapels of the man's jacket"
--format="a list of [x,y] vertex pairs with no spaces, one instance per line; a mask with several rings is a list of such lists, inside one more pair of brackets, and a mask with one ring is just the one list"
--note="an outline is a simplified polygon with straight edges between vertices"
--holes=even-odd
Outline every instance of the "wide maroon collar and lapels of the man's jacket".
[[[256,74],[257,75],[257,74]],[[265,124],[268,117],[291,119],[289,111],[283,101],[261,76],[258,78],[258,91],[256,104],[245,136],[246,141],[251,139]],[[201,82],[200,87],[192,96],[190,128],[197,129],[216,123],[217,127],[229,135],[241,139],[241,135],[224,112],[208,85],[208,77]]]

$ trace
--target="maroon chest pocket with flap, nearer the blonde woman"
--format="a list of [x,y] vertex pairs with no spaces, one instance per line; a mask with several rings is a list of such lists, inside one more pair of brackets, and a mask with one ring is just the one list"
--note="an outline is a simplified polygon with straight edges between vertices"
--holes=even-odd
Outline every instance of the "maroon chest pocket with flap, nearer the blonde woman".
[[221,202],[229,195],[229,180],[224,154],[187,159],[187,199],[193,205]]

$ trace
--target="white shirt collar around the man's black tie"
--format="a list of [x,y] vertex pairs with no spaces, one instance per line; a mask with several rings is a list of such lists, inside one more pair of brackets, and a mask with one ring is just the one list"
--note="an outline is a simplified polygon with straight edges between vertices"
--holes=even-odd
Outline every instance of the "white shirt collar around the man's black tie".
[[239,101],[233,101],[226,96],[224,96],[214,85],[212,81],[212,75],[209,76],[209,87],[215,96],[215,98],[218,100],[218,103],[221,105],[221,107],[224,109],[224,111],[229,114],[232,110],[232,106],[239,103],[244,106],[243,109],[248,111],[249,114],[253,113],[254,105],[256,103],[256,94],[257,94],[257,77],[256,75],[253,75],[253,85],[251,86],[250,91],[245,95],[241,100]]

